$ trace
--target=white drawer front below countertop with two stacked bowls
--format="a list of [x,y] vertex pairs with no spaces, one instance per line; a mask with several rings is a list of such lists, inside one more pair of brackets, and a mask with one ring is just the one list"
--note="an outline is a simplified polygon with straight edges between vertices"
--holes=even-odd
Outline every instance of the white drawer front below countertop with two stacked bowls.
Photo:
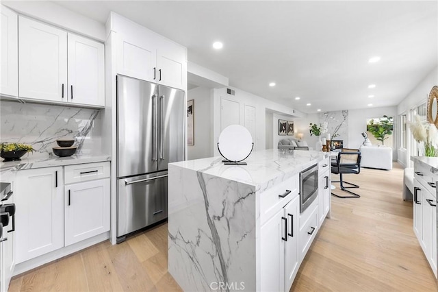
[[110,162],[86,163],[64,167],[64,184],[110,178]]

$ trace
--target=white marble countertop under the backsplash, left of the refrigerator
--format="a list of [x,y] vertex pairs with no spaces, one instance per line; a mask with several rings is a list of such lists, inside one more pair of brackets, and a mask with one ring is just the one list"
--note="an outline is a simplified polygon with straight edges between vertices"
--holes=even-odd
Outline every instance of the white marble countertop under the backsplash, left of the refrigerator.
[[81,163],[111,161],[109,155],[73,155],[69,157],[47,156],[33,158],[29,154],[18,161],[0,162],[0,171],[18,171],[21,169],[38,169],[42,167],[59,167],[64,165],[79,165]]

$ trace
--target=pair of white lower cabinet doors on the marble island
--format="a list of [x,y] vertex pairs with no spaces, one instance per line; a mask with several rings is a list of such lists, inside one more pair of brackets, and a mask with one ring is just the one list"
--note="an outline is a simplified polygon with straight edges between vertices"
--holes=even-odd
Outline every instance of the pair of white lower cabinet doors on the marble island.
[[299,267],[296,195],[261,227],[261,291],[289,291]]

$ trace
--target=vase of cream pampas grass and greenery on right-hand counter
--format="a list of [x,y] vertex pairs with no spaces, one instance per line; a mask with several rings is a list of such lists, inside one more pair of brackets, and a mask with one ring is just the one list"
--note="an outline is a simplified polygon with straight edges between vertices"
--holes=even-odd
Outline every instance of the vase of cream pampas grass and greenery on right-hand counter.
[[424,145],[424,156],[437,156],[438,131],[433,123],[422,121],[418,115],[415,115],[413,123],[409,125],[409,129],[415,141]]

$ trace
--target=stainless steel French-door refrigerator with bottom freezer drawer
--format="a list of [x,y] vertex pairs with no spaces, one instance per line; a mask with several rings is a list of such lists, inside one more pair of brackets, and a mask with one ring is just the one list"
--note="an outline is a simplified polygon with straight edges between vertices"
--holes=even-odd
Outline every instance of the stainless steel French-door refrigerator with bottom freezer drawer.
[[117,241],[166,219],[168,163],[184,160],[185,93],[117,76]]

